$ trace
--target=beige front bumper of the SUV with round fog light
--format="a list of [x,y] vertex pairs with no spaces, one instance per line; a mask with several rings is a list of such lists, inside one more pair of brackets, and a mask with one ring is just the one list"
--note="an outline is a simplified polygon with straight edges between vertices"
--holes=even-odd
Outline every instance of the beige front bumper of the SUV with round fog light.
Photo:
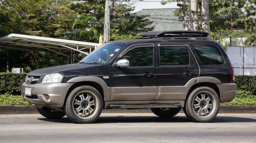
[[[32,104],[45,104],[54,107],[63,107],[66,94],[74,83],[40,83],[27,85],[25,82],[21,85],[21,94],[24,100]],[[32,99],[25,95],[25,87],[32,88]]]

